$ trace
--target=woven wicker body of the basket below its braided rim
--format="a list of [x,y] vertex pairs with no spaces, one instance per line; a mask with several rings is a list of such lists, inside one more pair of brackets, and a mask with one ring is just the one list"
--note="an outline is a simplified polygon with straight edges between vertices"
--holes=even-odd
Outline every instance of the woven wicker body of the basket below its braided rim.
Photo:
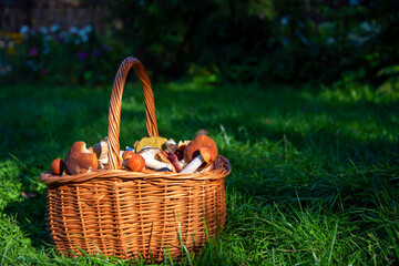
[[225,223],[224,178],[93,178],[48,188],[48,222],[66,256],[178,258],[197,252]]

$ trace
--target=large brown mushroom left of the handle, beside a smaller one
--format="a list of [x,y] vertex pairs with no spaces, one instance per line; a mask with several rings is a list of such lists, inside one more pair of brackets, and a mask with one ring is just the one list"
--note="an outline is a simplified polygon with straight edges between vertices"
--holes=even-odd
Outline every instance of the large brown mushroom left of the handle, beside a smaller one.
[[65,160],[68,174],[85,173],[88,171],[98,170],[99,160],[95,153],[86,149],[84,142],[73,143],[71,150],[68,152]]

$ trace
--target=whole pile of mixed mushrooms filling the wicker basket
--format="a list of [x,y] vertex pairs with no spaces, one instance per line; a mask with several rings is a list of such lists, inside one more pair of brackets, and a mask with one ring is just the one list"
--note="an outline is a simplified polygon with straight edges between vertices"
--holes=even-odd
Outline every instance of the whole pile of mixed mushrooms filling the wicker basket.
[[[180,141],[162,136],[143,137],[121,151],[121,167],[133,172],[144,168],[156,172],[198,174],[214,170],[217,157],[216,143],[201,134],[192,141]],[[64,160],[55,158],[51,172],[55,175],[74,175],[99,168],[108,168],[108,137],[86,149],[82,141],[73,143]]]

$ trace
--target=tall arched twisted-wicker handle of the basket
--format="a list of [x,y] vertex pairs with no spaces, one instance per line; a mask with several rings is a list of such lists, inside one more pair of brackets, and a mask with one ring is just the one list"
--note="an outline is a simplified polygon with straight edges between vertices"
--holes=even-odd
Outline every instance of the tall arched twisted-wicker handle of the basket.
[[121,63],[115,80],[112,86],[111,105],[109,113],[109,168],[116,170],[120,166],[120,125],[121,125],[121,105],[122,94],[126,76],[130,69],[133,66],[140,82],[142,84],[144,101],[145,101],[145,114],[146,114],[146,127],[149,136],[157,136],[157,125],[155,116],[154,94],[151,89],[151,82],[145,73],[143,64],[135,58],[126,58]]

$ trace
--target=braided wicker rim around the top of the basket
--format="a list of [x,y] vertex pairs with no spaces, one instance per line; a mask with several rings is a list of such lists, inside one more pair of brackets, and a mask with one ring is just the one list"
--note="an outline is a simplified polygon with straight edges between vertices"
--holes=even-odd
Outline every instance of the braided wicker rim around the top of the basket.
[[218,155],[215,160],[215,170],[202,174],[180,174],[172,172],[155,172],[144,170],[142,172],[132,172],[129,168],[120,167],[119,170],[101,168],[88,173],[75,175],[54,175],[51,171],[40,174],[40,182],[48,185],[64,185],[69,183],[81,183],[93,178],[122,178],[122,180],[171,180],[171,181],[204,181],[204,180],[219,180],[226,177],[232,172],[229,161]]

